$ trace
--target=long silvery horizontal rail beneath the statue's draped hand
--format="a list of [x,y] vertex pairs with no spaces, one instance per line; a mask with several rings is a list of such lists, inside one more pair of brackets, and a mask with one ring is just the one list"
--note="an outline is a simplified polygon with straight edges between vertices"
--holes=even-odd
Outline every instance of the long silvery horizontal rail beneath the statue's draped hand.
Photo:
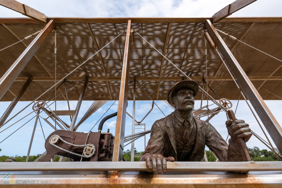
[[[148,170],[146,162],[2,162],[0,171],[26,170]],[[282,170],[282,162],[167,162],[167,170]]]

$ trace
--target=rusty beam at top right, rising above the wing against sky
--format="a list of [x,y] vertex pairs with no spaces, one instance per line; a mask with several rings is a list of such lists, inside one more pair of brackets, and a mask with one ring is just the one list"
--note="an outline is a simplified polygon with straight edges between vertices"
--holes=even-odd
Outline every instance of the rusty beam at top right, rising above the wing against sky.
[[249,4],[255,2],[257,0],[236,0],[233,3],[227,5],[226,7],[222,8],[220,11],[215,13],[212,16],[212,23],[217,23],[218,21],[230,16],[231,14],[237,12],[241,8],[248,6]]

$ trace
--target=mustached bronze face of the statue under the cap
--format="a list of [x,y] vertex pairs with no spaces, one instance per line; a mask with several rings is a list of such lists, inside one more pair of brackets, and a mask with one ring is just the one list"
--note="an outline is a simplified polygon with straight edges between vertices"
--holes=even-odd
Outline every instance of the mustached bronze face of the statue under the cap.
[[188,88],[181,88],[175,91],[170,105],[180,111],[192,111],[194,109],[193,91]]

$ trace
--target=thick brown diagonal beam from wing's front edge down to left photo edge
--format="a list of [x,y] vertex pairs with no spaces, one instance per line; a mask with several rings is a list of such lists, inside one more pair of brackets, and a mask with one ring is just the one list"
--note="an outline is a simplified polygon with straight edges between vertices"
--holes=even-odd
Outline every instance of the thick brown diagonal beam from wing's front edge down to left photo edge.
[[18,77],[25,65],[29,62],[44,40],[49,36],[55,28],[55,21],[51,20],[42,29],[42,31],[34,38],[24,52],[18,57],[14,64],[7,70],[7,72],[0,79],[0,99],[13,84],[14,80]]

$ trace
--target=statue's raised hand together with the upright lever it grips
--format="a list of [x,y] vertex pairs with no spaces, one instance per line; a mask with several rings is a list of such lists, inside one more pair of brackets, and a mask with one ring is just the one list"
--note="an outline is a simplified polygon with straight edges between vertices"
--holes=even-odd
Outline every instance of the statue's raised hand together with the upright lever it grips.
[[228,134],[233,139],[237,139],[238,147],[240,149],[243,161],[252,161],[249,150],[245,143],[252,136],[249,125],[246,124],[244,120],[237,120],[233,110],[228,110],[227,114],[230,119],[226,122]]

